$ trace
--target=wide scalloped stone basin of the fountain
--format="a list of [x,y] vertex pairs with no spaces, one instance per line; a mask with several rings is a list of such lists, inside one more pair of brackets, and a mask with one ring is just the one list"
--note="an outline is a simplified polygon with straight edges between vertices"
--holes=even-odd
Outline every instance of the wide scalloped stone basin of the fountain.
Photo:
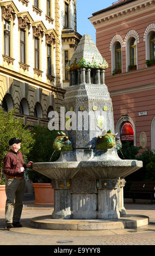
[[70,161],[34,163],[33,169],[50,179],[72,179],[79,170],[95,179],[125,178],[142,167],[138,160]]

